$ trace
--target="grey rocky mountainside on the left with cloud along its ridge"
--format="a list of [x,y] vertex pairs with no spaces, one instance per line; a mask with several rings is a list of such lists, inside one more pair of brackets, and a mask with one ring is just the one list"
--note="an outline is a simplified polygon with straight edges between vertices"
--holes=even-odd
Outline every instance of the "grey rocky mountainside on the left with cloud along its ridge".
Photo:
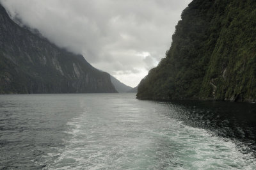
[[13,22],[0,5],[0,93],[116,93],[110,75]]

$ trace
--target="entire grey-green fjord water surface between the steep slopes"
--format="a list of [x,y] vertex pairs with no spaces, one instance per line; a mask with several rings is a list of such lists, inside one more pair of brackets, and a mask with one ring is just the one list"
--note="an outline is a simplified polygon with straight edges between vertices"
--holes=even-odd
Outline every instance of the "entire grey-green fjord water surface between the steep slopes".
[[255,169],[255,104],[0,96],[0,169]]

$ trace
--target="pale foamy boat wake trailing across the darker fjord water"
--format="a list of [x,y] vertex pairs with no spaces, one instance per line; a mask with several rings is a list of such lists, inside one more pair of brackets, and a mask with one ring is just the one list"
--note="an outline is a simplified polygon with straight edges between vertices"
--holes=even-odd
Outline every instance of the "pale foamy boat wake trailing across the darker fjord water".
[[67,123],[66,133],[72,137],[65,141],[65,148],[58,148],[60,157],[47,168],[256,168],[252,153],[242,152],[242,143],[218,137],[202,128],[189,127],[161,114],[170,112],[164,104],[150,103],[147,107],[141,112],[137,108],[121,114],[111,110],[110,118],[90,114],[87,109]]

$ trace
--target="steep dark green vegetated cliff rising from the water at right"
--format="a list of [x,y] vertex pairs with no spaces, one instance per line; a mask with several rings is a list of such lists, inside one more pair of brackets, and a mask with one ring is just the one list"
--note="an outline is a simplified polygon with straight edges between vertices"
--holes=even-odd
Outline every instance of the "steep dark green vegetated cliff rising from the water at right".
[[256,101],[256,1],[194,0],[172,38],[138,98]]

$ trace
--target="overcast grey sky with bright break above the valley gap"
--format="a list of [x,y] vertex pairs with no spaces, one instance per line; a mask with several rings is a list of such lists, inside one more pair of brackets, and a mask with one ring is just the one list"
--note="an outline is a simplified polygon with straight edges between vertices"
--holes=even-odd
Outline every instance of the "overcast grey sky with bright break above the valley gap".
[[191,0],[0,0],[12,17],[129,86],[164,58]]

